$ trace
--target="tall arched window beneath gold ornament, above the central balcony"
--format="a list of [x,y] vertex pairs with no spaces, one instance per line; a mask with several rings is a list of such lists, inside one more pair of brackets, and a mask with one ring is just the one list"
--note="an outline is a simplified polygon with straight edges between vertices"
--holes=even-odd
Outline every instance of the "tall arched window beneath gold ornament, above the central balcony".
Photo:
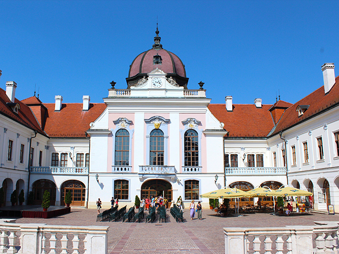
[[150,132],[149,165],[164,165],[164,133],[159,129]]

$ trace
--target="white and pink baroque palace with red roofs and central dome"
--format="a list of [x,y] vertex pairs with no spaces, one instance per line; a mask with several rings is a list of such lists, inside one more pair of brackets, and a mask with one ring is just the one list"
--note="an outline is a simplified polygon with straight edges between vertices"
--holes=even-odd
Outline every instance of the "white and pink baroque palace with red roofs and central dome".
[[131,205],[136,195],[157,194],[207,207],[199,195],[224,186],[289,185],[313,192],[316,210],[332,204],[339,211],[334,64],[322,66],[324,85],[295,104],[233,104],[232,96],[210,104],[202,82],[188,88],[185,66],[158,34],[131,63],[126,89],[111,82],[103,103],[88,95],[83,103],[64,103],[61,95],[55,103],[35,95],[20,101],[14,81],[0,88],[2,205],[23,189],[35,204],[49,190],[51,205],[64,205],[71,190],[71,205],[87,208],[98,198],[108,207],[111,197]]

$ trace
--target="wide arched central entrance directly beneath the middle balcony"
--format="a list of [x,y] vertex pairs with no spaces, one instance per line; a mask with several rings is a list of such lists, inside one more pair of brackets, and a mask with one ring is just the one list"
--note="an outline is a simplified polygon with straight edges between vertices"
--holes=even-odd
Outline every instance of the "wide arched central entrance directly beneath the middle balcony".
[[152,196],[159,196],[166,197],[168,203],[172,201],[172,184],[161,179],[154,179],[144,182],[141,185],[141,198]]

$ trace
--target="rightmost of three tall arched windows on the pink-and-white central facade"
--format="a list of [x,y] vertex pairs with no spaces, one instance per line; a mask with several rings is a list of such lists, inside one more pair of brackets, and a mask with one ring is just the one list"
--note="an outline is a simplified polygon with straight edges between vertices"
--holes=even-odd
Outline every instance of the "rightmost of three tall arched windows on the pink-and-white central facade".
[[198,133],[195,130],[187,130],[184,135],[185,166],[199,166]]

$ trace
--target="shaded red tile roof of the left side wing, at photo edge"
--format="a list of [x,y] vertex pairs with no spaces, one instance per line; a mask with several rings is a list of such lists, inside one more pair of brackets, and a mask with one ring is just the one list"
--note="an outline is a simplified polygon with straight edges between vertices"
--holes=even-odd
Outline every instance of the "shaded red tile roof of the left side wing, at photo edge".
[[26,104],[15,99],[14,103],[18,103],[20,105],[20,109],[16,114],[13,112],[11,107],[7,105],[7,103],[11,103],[11,101],[7,97],[6,91],[0,88],[0,113],[16,121],[17,123],[20,123],[32,130],[36,130],[42,135],[46,135],[41,129],[39,123],[36,121],[31,109]]

